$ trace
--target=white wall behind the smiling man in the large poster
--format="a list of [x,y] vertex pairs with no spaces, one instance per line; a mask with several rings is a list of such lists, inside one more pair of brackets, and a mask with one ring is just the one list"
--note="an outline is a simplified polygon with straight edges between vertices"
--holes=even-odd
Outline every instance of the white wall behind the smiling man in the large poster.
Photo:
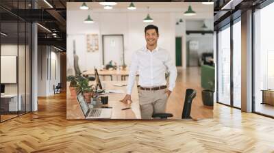
[[[102,42],[104,34],[123,34],[125,46],[125,64],[129,65],[132,53],[145,46],[145,26],[149,23],[140,22],[146,13],[93,13],[92,18],[99,20],[93,24],[84,24],[83,20],[87,13],[82,11],[67,11],[67,58],[68,68],[73,68],[73,40],[75,40],[76,54],[79,56],[80,69],[88,70],[93,66],[102,65]],[[80,18],[79,16],[82,16]],[[119,16],[119,17],[118,17]],[[160,38],[158,46],[165,48],[175,61],[175,16],[174,14],[158,13],[151,14],[156,20],[153,25],[159,28]],[[164,20],[162,20],[164,18]],[[101,23],[101,24],[100,24]],[[79,28],[81,27],[81,28]],[[99,34],[99,51],[87,53],[86,34]]]

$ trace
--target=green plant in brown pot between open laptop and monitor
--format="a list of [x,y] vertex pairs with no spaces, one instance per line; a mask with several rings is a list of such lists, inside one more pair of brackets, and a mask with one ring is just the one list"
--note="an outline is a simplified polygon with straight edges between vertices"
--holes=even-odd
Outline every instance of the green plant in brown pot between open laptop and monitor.
[[90,102],[90,98],[92,98],[94,94],[93,86],[89,85],[88,82],[88,79],[85,77],[79,77],[78,79],[78,91],[82,92],[86,102]]

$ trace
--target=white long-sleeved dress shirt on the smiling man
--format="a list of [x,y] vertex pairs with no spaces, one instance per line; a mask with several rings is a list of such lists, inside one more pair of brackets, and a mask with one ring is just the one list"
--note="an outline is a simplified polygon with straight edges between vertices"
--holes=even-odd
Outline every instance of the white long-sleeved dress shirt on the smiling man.
[[172,91],[175,87],[177,70],[169,53],[158,46],[153,51],[149,51],[147,46],[135,51],[132,55],[132,64],[129,68],[127,94],[132,94],[132,87],[134,86],[137,71],[139,74],[138,85],[141,87],[166,85],[166,68],[170,73],[169,90]]

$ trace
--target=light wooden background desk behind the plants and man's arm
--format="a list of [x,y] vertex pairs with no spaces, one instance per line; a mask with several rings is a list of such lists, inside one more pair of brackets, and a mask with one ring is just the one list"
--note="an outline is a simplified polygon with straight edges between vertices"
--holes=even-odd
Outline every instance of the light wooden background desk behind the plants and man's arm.
[[[112,77],[116,76],[118,80],[118,77],[121,76],[121,80],[123,81],[125,80],[125,77],[129,75],[129,70],[98,70],[98,74],[103,77],[110,76],[111,81]],[[83,72],[83,75],[95,75],[95,70],[87,70],[86,72]]]

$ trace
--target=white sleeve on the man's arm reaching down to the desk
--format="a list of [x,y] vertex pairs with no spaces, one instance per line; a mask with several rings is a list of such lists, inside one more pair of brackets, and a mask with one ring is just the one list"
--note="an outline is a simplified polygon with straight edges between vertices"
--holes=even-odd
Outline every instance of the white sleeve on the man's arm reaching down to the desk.
[[127,94],[132,94],[132,87],[134,86],[134,83],[135,83],[137,70],[138,70],[138,58],[137,58],[137,53],[134,52],[132,55],[132,63],[130,64],[130,68],[129,68],[129,78],[127,81]]

